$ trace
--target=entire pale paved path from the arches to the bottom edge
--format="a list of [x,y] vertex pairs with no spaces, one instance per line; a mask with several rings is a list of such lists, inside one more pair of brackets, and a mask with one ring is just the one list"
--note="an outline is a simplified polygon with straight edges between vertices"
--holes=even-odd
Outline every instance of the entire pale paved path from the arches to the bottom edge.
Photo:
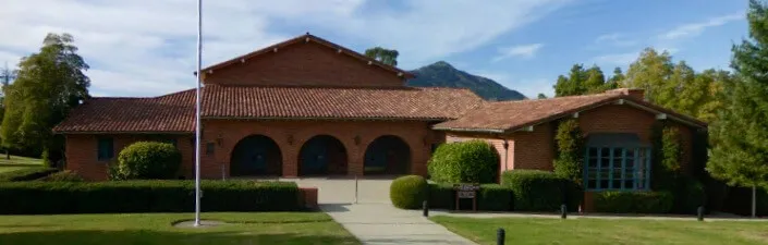
[[475,244],[422,217],[419,210],[394,208],[389,200],[391,179],[285,179],[298,186],[318,187],[320,209],[363,244]]

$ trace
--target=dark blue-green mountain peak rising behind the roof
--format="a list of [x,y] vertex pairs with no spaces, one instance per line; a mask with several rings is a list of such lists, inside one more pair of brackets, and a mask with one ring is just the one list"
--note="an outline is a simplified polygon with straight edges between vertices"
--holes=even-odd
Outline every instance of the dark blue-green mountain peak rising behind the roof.
[[444,61],[438,61],[411,72],[416,75],[416,78],[410,79],[409,86],[470,88],[487,100],[525,99],[523,94],[509,89],[496,81],[458,70]]

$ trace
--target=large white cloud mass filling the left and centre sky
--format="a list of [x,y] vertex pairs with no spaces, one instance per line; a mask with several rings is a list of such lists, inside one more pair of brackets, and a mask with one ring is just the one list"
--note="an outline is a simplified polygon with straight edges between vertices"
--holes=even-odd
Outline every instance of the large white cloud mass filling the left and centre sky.
[[[569,1],[404,1],[381,13],[365,12],[366,0],[204,1],[204,64],[301,35],[275,29],[288,25],[395,48],[401,66],[413,68],[473,50]],[[195,85],[196,21],[188,0],[9,1],[0,29],[12,35],[0,36],[0,62],[35,52],[47,33],[68,32],[93,68],[95,95],[161,95]]]

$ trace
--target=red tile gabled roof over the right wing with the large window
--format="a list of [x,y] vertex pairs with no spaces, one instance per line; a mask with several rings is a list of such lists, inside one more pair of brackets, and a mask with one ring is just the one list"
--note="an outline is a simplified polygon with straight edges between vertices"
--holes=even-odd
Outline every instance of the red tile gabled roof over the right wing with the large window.
[[552,99],[488,102],[481,109],[473,110],[458,120],[436,124],[432,128],[495,133],[513,132],[526,126],[570,115],[578,111],[613,103],[619,100],[626,101],[632,106],[645,110],[667,113],[673,120],[682,121],[694,126],[707,126],[707,124],[702,121],[638,100],[629,95],[606,93]]

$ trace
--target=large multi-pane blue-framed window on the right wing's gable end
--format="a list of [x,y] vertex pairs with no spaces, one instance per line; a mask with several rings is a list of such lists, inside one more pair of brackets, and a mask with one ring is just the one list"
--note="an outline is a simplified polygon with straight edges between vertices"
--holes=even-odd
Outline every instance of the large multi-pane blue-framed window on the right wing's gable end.
[[[634,135],[633,135],[634,136]],[[650,183],[650,148],[634,137],[589,136],[584,180],[589,191],[641,191]],[[595,139],[595,140],[594,140]]]

